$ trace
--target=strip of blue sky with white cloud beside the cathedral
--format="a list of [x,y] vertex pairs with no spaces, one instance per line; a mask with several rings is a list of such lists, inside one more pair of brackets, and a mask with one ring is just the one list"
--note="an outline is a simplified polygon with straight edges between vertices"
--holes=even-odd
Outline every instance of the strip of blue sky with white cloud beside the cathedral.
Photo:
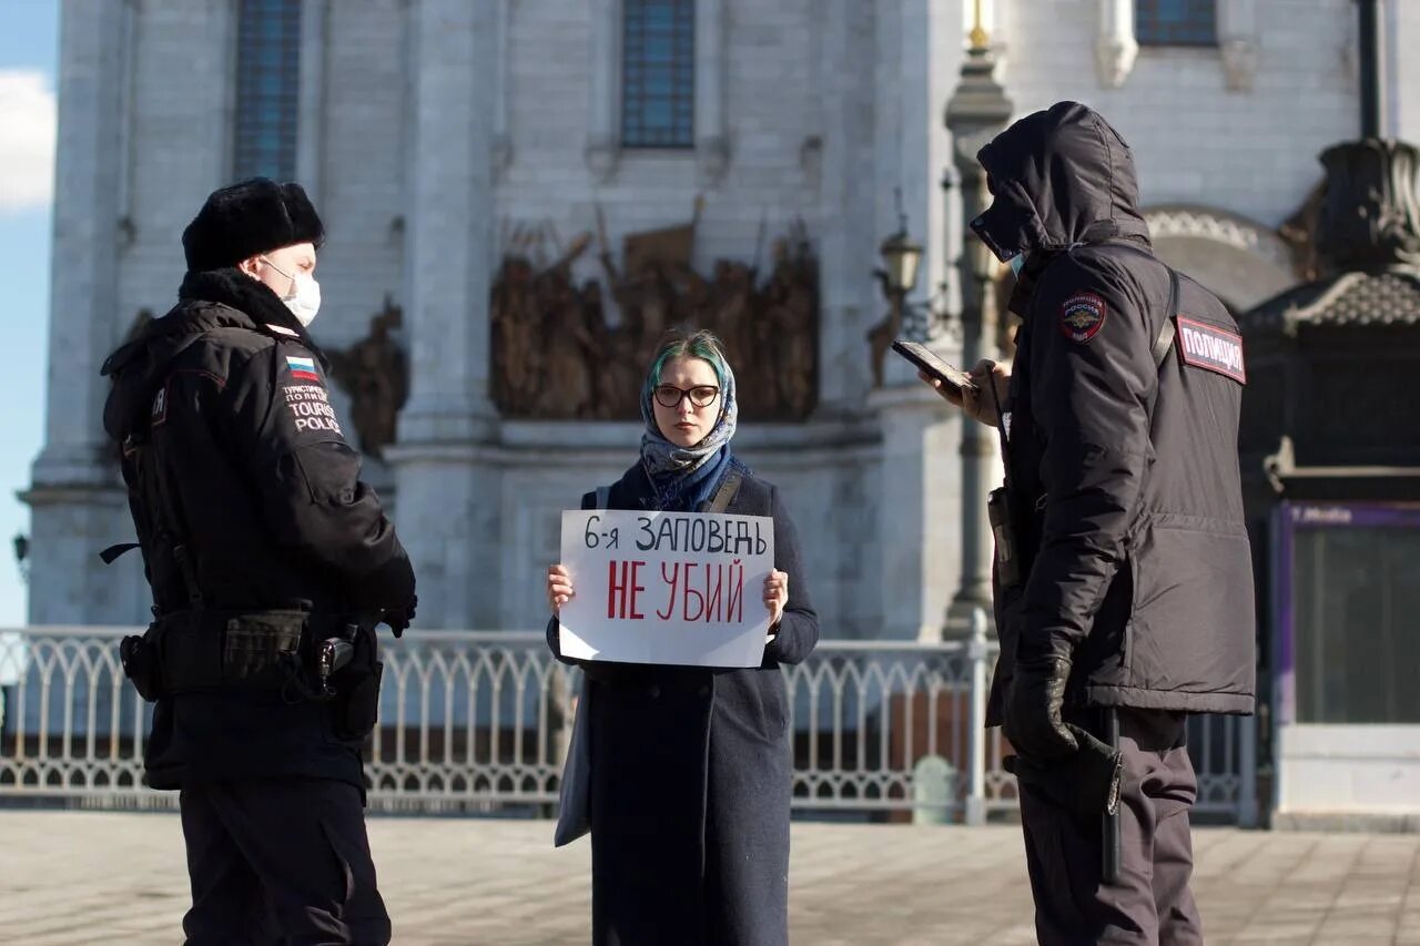
[[54,74],[58,0],[3,0],[0,13],[0,290],[6,369],[0,372],[0,626],[26,621],[27,592],[10,548],[30,533],[16,493],[44,430],[50,325]]

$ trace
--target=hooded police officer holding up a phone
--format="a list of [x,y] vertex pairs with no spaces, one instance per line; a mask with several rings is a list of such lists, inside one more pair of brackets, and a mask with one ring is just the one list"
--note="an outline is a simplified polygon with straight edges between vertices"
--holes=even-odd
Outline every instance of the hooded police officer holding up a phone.
[[1184,720],[1251,713],[1255,675],[1238,328],[1152,254],[1129,146],[1089,108],[977,159],[971,227],[1024,324],[1010,375],[983,362],[949,399],[1008,433],[988,724],[1018,753],[1037,935],[1201,943]]

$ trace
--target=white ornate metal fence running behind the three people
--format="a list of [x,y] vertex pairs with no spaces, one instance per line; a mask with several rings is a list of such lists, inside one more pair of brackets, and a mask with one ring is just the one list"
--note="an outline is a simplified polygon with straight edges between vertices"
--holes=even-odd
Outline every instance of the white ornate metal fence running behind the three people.
[[[980,624],[980,622],[978,622]],[[142,784],[152,707],[124,678],[125,628],[0,632],[0,803],[70,798],[165,807]],[[371,804],[416,811],[545,811],[557,801],[577,672],[542,634],[412,631],[382,651]],[[998,730],[985,730],[995,643],[824,641],[784,668],[794,807],[976,824],[1015,807]],[[1198,810],[1257,818],[1251,720],[1198,717]]]

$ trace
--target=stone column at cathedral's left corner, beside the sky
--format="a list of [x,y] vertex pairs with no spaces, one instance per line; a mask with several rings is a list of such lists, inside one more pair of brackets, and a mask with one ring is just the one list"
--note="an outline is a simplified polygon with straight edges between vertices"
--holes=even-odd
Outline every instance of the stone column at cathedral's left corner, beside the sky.
[[[116,344],[126,3],[64,4],[45,443],[24,494],[33,510],[30,621],[84,624],[111,614],[116,584],[98,550],[132,535],[108,459],[99,376]],[[31,312],[27,317],[38,317]]]

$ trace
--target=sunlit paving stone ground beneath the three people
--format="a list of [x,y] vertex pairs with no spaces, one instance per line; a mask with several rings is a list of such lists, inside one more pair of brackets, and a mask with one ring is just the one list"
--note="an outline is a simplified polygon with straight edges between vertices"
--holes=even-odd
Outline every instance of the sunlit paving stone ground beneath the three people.
[[[399,946],[588,942],[589,845],[545,821],[372,817]],[[1207,942],[1420,946],[1420,835],[1200,828]],[[1020,830],[795,822],[795,945],[1032,943]],[[170,945],[173,814],[0,810],[0,943]],[[667,945],[674,946],[674,945]]]

